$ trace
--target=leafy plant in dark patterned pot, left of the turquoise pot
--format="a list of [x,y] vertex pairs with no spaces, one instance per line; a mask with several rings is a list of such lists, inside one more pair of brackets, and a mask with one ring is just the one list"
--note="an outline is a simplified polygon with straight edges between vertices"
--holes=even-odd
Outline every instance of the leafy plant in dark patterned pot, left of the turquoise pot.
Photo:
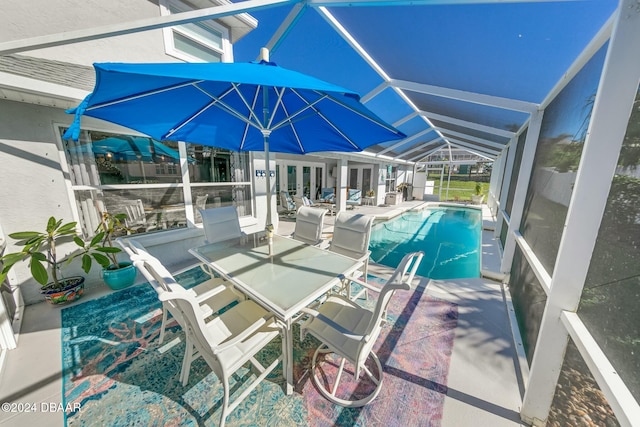
[[[44,232],[22,231],[9,234],[22,245],[20,252],[7,254],[0,258],[4,264],[0,272],[0,282],[4,281],[9,270],[19,261],[29,261],[31,276],[42,285],[41,293],[52,304],[75,301],[84,292],[84,277],[62,277],[60,268],[70,263],[74,256],[65,260],[58,259],[57,245],[64,240],[78,237],[76,222],[63,224],[62,219],[49,218]],[[88,273],[83,263],[83,270]],[[49,281],[51,277],[51,281]]]

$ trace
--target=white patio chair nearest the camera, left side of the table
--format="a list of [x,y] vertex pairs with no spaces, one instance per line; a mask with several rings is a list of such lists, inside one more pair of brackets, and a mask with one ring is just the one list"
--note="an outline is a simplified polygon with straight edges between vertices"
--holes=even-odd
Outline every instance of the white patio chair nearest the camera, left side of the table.
[[[224,397],[220,426],[224,426],[229,413],[284,359],[284,338],[282,354],[268,367],[265,368],[255,358],[260,350],[281,334],[282,326],[273,315],[253,301],[243,301],[205,323],[199,315],[198,302],[189,293],[180,289],[171,292],[163,290],[160,300],[173,305],[181,312],[178,321],[182,322],[181,326],[190,343],[222,381]],[[229,378],[247,362],[251,362],[259,375],[233,403],[230,403]]]

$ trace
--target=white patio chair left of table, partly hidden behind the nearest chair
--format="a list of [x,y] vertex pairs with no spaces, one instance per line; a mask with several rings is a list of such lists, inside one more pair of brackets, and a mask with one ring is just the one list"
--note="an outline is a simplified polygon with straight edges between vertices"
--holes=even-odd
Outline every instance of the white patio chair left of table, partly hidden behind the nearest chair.
[[[140,242],[134,239],[123,238],[118,238],[116,241],[125,250],[127,255],[129,255],[133,264],[138,268],[145,279],[149,281],[156,292],[159,292],[160,289],[168,290],[169,284],[181,286],[176,282],[173,275],[167,271],[164,265],[162,265],[156,257],[147,252]],[[205,270],[205,272],[207,271]],[[192,295],[200,305],[200,313],[203,318],[212,316],[233,302],[245,299],[245,296],[241,292],[235,290],[233,286],[228,284],[228,282],[213,277],[189,288],[186,292]],[[172,310],[169,305],[163,303],[162,322],[160,324],[160,336],[158,340],[160,344],[164,342],[169,314],[176,318],[175,310]],[[185,357],[182,363],[182,370],[180,372],[180,380],[185,385],[189,381],[189,370],[192,360],[193,349],[187,345]]]

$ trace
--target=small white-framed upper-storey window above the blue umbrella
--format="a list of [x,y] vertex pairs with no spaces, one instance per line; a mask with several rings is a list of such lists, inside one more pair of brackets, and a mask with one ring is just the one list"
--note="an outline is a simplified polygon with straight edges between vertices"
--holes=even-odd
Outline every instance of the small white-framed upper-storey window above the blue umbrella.
[[[162,15],[187,12],[193,8],[178,0],[161,0]],[[224,62],[230,60],[229,31],[209,20],[164,28],[167,55],[187,62]]]

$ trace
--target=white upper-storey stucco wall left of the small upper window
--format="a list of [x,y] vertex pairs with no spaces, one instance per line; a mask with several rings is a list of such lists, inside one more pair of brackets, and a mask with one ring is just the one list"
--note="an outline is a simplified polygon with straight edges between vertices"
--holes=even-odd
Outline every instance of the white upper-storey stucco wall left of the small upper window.
[[[160,16],[146,0],[3,1],[0,40],[10,41]],[[73,45],[22,52],[76,64],[94,62],[175,62],[164,54],[162,30],[151,30]]]

